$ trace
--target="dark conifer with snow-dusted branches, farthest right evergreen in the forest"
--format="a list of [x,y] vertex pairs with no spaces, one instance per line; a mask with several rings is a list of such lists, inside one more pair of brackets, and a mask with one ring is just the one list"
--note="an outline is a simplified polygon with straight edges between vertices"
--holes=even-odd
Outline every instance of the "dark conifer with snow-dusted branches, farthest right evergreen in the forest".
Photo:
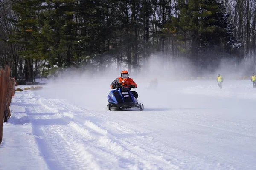
[[231,52],[233,48],[241,47],[234,37],[233,26],[228,23],[229,14],[223,3],[217,0],[205,0],[202,5],[204,17],[204,28],[211,28],[212,31],[205,31],[201,34],[201,44],[204,47],[218,46],[220,50]]

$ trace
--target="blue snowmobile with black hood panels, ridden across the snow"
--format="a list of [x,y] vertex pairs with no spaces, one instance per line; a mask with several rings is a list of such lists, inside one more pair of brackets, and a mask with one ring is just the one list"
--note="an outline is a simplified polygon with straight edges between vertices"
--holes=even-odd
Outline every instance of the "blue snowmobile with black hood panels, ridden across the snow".
[[112,108],[121,110],[140,108],[140,111],[143,111],[144,105],[138,103],[138,99],[133,96],[130,88],[119,84],[116,89],[111,89],[108,94],[108,110],[111,111]]

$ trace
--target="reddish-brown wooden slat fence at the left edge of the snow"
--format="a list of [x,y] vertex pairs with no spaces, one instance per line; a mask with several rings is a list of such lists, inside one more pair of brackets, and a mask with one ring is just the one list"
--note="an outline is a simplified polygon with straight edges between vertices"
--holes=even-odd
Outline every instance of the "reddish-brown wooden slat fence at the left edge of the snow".
[[11,69],[0,70],[0,144],[3,139],[3,122],[11,116],[10,103],[15,93],[15,78],[10,78]]

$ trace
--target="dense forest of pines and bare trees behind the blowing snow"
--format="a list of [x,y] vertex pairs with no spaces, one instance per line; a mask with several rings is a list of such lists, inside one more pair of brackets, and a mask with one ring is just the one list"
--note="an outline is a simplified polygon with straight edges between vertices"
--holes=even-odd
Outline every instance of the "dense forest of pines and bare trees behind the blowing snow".
[[0,67],[6,64],[26,82],[70,68],[147,74],[154,64],[180,77],[220,65],[251,75],[256,1],[0,0]]

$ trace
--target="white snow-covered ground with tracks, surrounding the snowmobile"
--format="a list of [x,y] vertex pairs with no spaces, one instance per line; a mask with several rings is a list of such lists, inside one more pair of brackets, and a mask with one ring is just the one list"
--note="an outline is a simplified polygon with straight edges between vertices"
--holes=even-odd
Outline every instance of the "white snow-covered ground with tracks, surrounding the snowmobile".
[[224,81],[222,90],[215,81],[154,90],[138,83],[144,111],[110,112],[109,87],[83,86],[15,93],[0,170],[256,169],[256,89],[248,80]]

